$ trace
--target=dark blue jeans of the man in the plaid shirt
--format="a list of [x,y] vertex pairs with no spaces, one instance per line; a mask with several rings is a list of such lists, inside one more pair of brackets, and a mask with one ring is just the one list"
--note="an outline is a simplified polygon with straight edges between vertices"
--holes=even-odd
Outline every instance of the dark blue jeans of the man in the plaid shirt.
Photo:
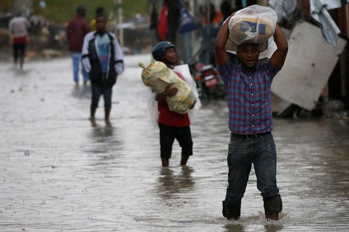
[[257,177],[257,189],[263,198],[276,196],[276,149],[271,132],[247,139],[231,134],[228,151],[228,188],[225,202],[241,204],[252,164]]

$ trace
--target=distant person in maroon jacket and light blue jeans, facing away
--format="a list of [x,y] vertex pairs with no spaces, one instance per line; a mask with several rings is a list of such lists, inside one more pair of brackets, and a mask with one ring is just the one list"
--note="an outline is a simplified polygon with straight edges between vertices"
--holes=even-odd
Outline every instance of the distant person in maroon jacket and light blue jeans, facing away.
[[[87,33],[90,32],[88,22],[84,19],[85,13],[86,9],[83,6],[78,6],[76,8],[76,16],[69,23],[67,28],[69,51],[71,52],[73,58],[73,73],[76,85],[79,83],[79,66],[81,63],[83,38]],[[86,83],[89,81],[89,75],[82,67],[81,74],[83,77],[83,84],[86,85]]]

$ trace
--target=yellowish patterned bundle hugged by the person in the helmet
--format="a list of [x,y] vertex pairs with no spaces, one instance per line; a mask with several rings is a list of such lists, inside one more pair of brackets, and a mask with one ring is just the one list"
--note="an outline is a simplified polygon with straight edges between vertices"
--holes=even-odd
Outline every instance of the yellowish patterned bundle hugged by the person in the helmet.
[[151,87],[157,94],[163,92],[168,85],[178,89],[176,95],[165,98],[170,110],[177,113],[187,113],[189,111],[197,97],[185,81],[178,77],[163,62],[154,61],[147,67],[143,63],[138,65],[143,68],[143,83]]

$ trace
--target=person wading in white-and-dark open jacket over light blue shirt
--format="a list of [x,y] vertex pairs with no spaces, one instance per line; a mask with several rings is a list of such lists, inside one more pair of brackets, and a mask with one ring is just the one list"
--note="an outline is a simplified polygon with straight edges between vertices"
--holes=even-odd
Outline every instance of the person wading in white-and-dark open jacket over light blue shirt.
[[123,72],[123,54],[115,35],[105,30],[106,17],[96,16],[96,31],[87,34],[82,47],[82,64],[89,73],[92,88],[91,119],[95,118],[99,98],[104,96],[104,119],[109,121],[112,87]]

